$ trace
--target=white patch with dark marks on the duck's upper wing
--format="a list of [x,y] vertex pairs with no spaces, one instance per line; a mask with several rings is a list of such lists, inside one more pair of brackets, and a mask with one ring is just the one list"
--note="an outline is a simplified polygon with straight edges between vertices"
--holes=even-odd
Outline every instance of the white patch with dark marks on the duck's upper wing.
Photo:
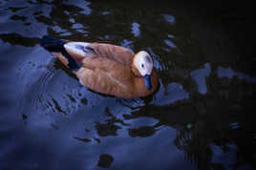
[[95,49],[86,42],[69,42],[64,45],[64,48],[73,53],[80,54],[82,56],[93,56],[96,54]]

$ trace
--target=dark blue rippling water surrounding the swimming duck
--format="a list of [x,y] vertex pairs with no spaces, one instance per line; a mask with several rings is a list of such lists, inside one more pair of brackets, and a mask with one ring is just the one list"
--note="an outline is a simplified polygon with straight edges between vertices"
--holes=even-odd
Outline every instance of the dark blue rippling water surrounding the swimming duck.
[[[255,168],[255,58],[229,30],[240,21],[175,3],[0,1],[0,169]],[[146,50],[160,89],[89,91],[44,34]]]

